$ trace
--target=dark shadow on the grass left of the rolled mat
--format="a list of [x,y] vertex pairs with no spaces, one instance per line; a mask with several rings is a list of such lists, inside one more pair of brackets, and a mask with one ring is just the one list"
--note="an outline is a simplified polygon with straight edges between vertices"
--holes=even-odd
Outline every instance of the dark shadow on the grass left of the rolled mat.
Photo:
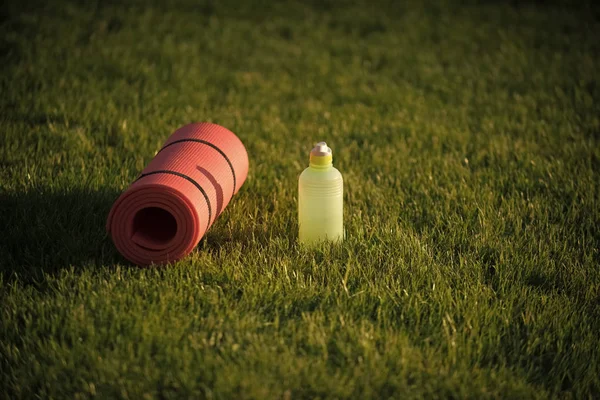
[[44,273],[122,261],[105,231],[118,195],[82,189],[0,193],[0,273],[33,283]]

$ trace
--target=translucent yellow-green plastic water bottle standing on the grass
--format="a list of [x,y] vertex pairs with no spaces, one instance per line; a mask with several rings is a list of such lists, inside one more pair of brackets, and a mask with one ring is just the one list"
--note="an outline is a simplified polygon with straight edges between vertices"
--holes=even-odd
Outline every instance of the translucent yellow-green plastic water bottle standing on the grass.
[[300,243],[344,239],[344,180],[327,143],[317,143],[298,180]]

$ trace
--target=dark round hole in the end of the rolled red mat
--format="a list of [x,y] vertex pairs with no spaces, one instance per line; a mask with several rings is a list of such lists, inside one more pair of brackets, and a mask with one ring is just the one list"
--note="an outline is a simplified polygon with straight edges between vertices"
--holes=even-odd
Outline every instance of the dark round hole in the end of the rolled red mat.
[[142,208],[133,218],[133,241],[150,249],[164,248],[177,233],[173,214],[159,207]]

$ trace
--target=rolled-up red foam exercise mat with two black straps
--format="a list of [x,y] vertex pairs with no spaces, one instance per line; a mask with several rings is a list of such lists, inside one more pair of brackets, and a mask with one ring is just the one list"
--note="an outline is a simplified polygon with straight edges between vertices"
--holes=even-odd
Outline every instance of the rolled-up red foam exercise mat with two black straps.
[[117,199],[106,229],[136,264],[178,260],[196,247],[247,175],[248,153],[233,132],[186,125]]

